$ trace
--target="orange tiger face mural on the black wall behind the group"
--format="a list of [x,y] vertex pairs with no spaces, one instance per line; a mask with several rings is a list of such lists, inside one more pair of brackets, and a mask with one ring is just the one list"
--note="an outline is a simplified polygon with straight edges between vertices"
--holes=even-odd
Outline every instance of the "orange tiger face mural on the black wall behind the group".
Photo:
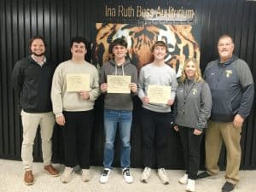
[[108,48],[115,38],[125,38],[128,44],[127,56],[138,69],[153,61],[151,47],[159,40],[167,44],[169,53],[166,64],[176,69],[177,78],[181,76],[186,58],[200,60],[200,48],[191,32],[191,25],[97,23],[96,30],[93,62],[100,66],[112,58]]

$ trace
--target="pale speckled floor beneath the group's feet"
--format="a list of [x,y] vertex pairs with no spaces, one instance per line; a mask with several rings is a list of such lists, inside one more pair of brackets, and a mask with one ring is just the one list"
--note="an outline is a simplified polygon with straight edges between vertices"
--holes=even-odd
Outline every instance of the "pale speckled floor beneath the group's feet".
[[[55,165],[62,172],[63,166]],[[0,192],[184,192],[185,185],[177,183],[179,177],[183,176],[183,171],[167,170],[170,184],[160,183],[156,172],[152,173],[149,183],[141,183],[141,169],[131,169],[134,182],[125,183],[118,168],[111,172],[109,182],[99,183],[102,167],[91,167],[92,179],[84,183],[80,179],[79,170],[70,183],[63,184],[59,177],[50,177],[43,171],[42,163],[34,163],[33,173],[36,182],[32,186],[23,183],[23,167],[20,161],[0,160]],[[256,171],[241,171],[241,182],[237,185],[235,192],[256,192]],[[221,192],[224,184],[224,172],[219,173],[216,179],[197,180],[197,192]]]

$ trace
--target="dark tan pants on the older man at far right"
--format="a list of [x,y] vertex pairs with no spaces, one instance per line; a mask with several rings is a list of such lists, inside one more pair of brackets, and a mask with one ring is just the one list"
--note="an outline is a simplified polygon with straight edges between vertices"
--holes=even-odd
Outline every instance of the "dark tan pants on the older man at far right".
[[206,131],[206,167],[211,175],[219,171],[218,158],[224,141],[227,150],[226,181],[239,182],[239,167],[241,162],[241,128],[233,123],[220,123],[209,120]]

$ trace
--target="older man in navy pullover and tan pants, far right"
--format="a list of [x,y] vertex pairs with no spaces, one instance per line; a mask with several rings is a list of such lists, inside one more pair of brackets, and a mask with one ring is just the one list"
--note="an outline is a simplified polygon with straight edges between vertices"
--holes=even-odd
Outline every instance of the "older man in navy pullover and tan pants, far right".
[[224,141],[227,149],[226,183],[222,192],[239,182],[241,127],[253,104],[253,76],[245,61],[233,55],[235,45],[228,35],[218,38],[219,59],[208,63],[204,77],[212,92],[212,113],[206,131],[206,168],[198,178],[219,171],[218,158]]

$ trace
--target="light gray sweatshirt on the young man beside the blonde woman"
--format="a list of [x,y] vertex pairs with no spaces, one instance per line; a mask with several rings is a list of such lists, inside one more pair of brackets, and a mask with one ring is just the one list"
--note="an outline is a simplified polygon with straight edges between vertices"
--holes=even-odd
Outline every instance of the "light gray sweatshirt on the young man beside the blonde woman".
[[[175,91],[177,89],[176,73],[172,67],[166,64],[157,66],[154,63],[150,63],[144,66],[139,75],[138,83],[138,96],[143,101],[143,97],[148,95],[148,85],[165,85],[171,86],[171,98],[175,99]],[[170,106],[166,104],[149,103],[144,104],[143,108],[147,108],[150,111],[166,113],[171,112]]]

